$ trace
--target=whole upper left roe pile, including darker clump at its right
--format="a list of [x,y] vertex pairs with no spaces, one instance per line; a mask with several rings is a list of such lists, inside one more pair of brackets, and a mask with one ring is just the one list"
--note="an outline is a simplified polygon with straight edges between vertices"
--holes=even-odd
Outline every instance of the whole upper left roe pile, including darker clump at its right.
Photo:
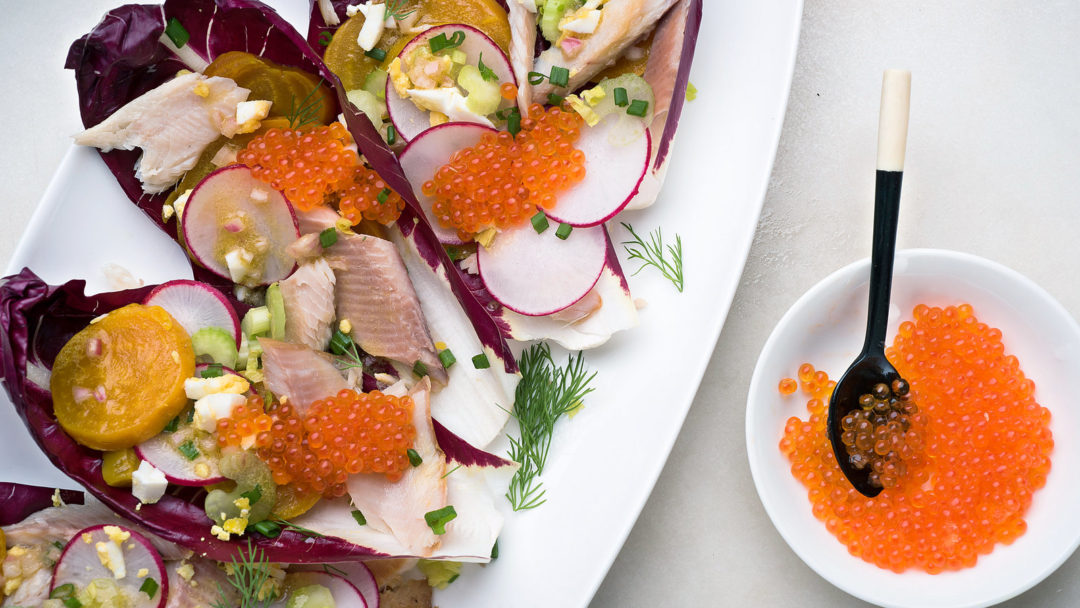
[[391,224],[405,202],[360,162],[352,136],[335,122],[314,129],[271,129],[237,154],[255,177],[281,190],[300,211],[337,202],[353,226],[364,219]]

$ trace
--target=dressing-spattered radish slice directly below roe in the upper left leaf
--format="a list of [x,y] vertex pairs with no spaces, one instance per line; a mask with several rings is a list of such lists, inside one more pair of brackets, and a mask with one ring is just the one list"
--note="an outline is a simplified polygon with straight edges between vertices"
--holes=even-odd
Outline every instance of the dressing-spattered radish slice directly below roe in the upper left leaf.
[[285,247],[300,238],[293,205],[244,165],[207,175],[184,207],[184,241],[211,272],[247,286],[292,274]]

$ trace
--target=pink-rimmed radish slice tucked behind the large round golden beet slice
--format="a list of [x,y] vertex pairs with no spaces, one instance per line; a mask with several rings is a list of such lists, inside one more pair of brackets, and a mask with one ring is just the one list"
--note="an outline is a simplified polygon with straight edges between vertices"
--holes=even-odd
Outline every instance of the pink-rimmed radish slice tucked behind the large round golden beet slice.
[[193,335],[203,327],[220,327],[235,336],[240,348],[240,317],[225,295],[198,281],[180,279],[162,283],[143,300],[146,306],[160,306]]

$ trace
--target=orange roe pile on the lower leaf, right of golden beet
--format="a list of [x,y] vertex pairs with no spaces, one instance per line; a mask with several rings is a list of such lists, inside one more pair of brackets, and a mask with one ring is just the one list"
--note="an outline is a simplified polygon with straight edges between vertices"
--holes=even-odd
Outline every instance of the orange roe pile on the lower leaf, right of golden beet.
[[408,396],[343,390],[312,403],[302,415],[289,403],[266,413],[262,397],[253,395],[246,407],[218,420],[218,445],[242,445],[254,433],[275,484],[335,498],[345,496],[349,475],[401,478],[416,438],[413,406]]

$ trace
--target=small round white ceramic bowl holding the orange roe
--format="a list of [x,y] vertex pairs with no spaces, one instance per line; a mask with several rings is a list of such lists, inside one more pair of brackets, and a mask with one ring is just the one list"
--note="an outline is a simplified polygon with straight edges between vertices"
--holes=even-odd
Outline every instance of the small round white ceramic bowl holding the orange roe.
[[834,585],[896,608],[968,608],[1003,602],[1053,572],[1080,544],[1080,325],[1047,292],[996,262],[956,252],[910,249],[896,256],[889,339],[917,303],[968,302],[1003,333],[1035,381],[1036,398],[1052,413],[1053,468],[1026,515],[1027,532],[997,545],[974,568],[936,576],[879,569],[852,557],[810,512],[806,489],[779,449],[784,423],[806,418],[801,391],[777,384],[804,362],[838,378],[858,354],[866,324],[869,260],[833,273],[807,292],[777,324],[761,350],[746,402],[746,450],[769,517],[798,556]]

